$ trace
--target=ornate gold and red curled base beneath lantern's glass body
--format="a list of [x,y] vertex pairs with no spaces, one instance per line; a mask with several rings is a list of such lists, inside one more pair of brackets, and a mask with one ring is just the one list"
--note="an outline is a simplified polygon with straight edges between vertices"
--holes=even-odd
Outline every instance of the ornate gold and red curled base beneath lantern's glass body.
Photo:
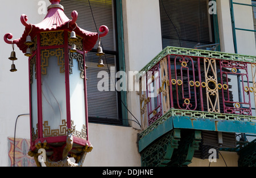
[[[73,152],[70,152],[72,150],[73,147],[73,135],[72,133],[69,133],[67,135],[67,140],[66,140],[66,144],[65,147],[57,147],[53,149],[53,154],[51,156],[47,156],[46,154],[46,150],[48,149],[49,146],[47,146],[47,143],[44,142],[42,148],[40,148],[38,150],[38,153],[32,152],[31,150],[28,152],[28,155],[30,155],[31,157],[34,157],[36,165],[38,167],[42,167],[42,162],[44,162],[44,164],[46,164],[47,167],[81,167],[82,164],[84,163],[85,160],[85,156],[88,152],[92,151],[93,146],[90,144],[90,146],[88,144],[86,144],[85,147],[80,148],[81,153],[80,154],[75,154]],[[41,151],[41,152],[40,152]],[[60,155],[62,152],[62,155]],[[43,159],[40,158],[39,159],[39,155],[43,155]],[[73,158],[75,158],[76,163],[73,163],[68,155],[72,156]],[[62,156],[62,160],[59,161],[55,161],[56,158],[59,158],[60,156]]]

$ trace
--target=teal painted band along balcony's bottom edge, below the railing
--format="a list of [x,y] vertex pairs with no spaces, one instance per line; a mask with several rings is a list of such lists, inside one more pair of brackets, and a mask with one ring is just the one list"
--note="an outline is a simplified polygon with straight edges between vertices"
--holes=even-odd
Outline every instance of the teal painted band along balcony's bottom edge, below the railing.
[[[159,121],[161,118],[159,119]],[[156,121],[157,123],[158,121]],[[174,129],[194,129],[219,131],[226,133],[256,134],[256,123],[248,121],[194,118],[185,116],[171,116],[159,123],[154,129],[145,130],[139,140],[139,152],[158,139],[160,136]]]

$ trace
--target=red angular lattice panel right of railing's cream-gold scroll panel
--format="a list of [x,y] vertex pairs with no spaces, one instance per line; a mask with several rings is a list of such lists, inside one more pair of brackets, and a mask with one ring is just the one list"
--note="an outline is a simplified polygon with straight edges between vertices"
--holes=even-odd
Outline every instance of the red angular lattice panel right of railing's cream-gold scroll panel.
[[[220,61],[220,72],[222,82],[222,95],[224,98],[224,90],[227,90],[228,96],[224,98],[224,112],[229,114],[251,115],[251,104],[249,92],[254,92],[254,88],[249,86],[249,77],[247,71],[247,63],[237,61]],[[229,85],[229,80],[238,80],[232,82],[232,88]],[[237,85],[236,85],[237,84]],[[230,97],[232,93],[238,93],[238,96]]]

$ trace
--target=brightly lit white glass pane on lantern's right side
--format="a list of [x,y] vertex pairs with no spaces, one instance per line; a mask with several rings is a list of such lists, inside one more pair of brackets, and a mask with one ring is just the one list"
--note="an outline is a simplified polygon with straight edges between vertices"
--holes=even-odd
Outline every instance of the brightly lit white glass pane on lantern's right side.
[[84,61],[82,55],[77,53],[72,60],[72,74],[69,75],[71,121],[77,131],[85,128],[85,90],[84,90]]

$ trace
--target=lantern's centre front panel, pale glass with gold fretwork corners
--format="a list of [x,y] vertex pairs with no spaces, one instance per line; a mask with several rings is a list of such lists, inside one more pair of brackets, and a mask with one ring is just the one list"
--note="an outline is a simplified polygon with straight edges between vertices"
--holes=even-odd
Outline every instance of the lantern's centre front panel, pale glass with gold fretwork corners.
[[[51,131],[54,129],[56,136],[61,133],[60,126],[67,122],[63,49],[42,50],[41,74],[43,126]],[[53,136],[49,134],[44,137]]]

